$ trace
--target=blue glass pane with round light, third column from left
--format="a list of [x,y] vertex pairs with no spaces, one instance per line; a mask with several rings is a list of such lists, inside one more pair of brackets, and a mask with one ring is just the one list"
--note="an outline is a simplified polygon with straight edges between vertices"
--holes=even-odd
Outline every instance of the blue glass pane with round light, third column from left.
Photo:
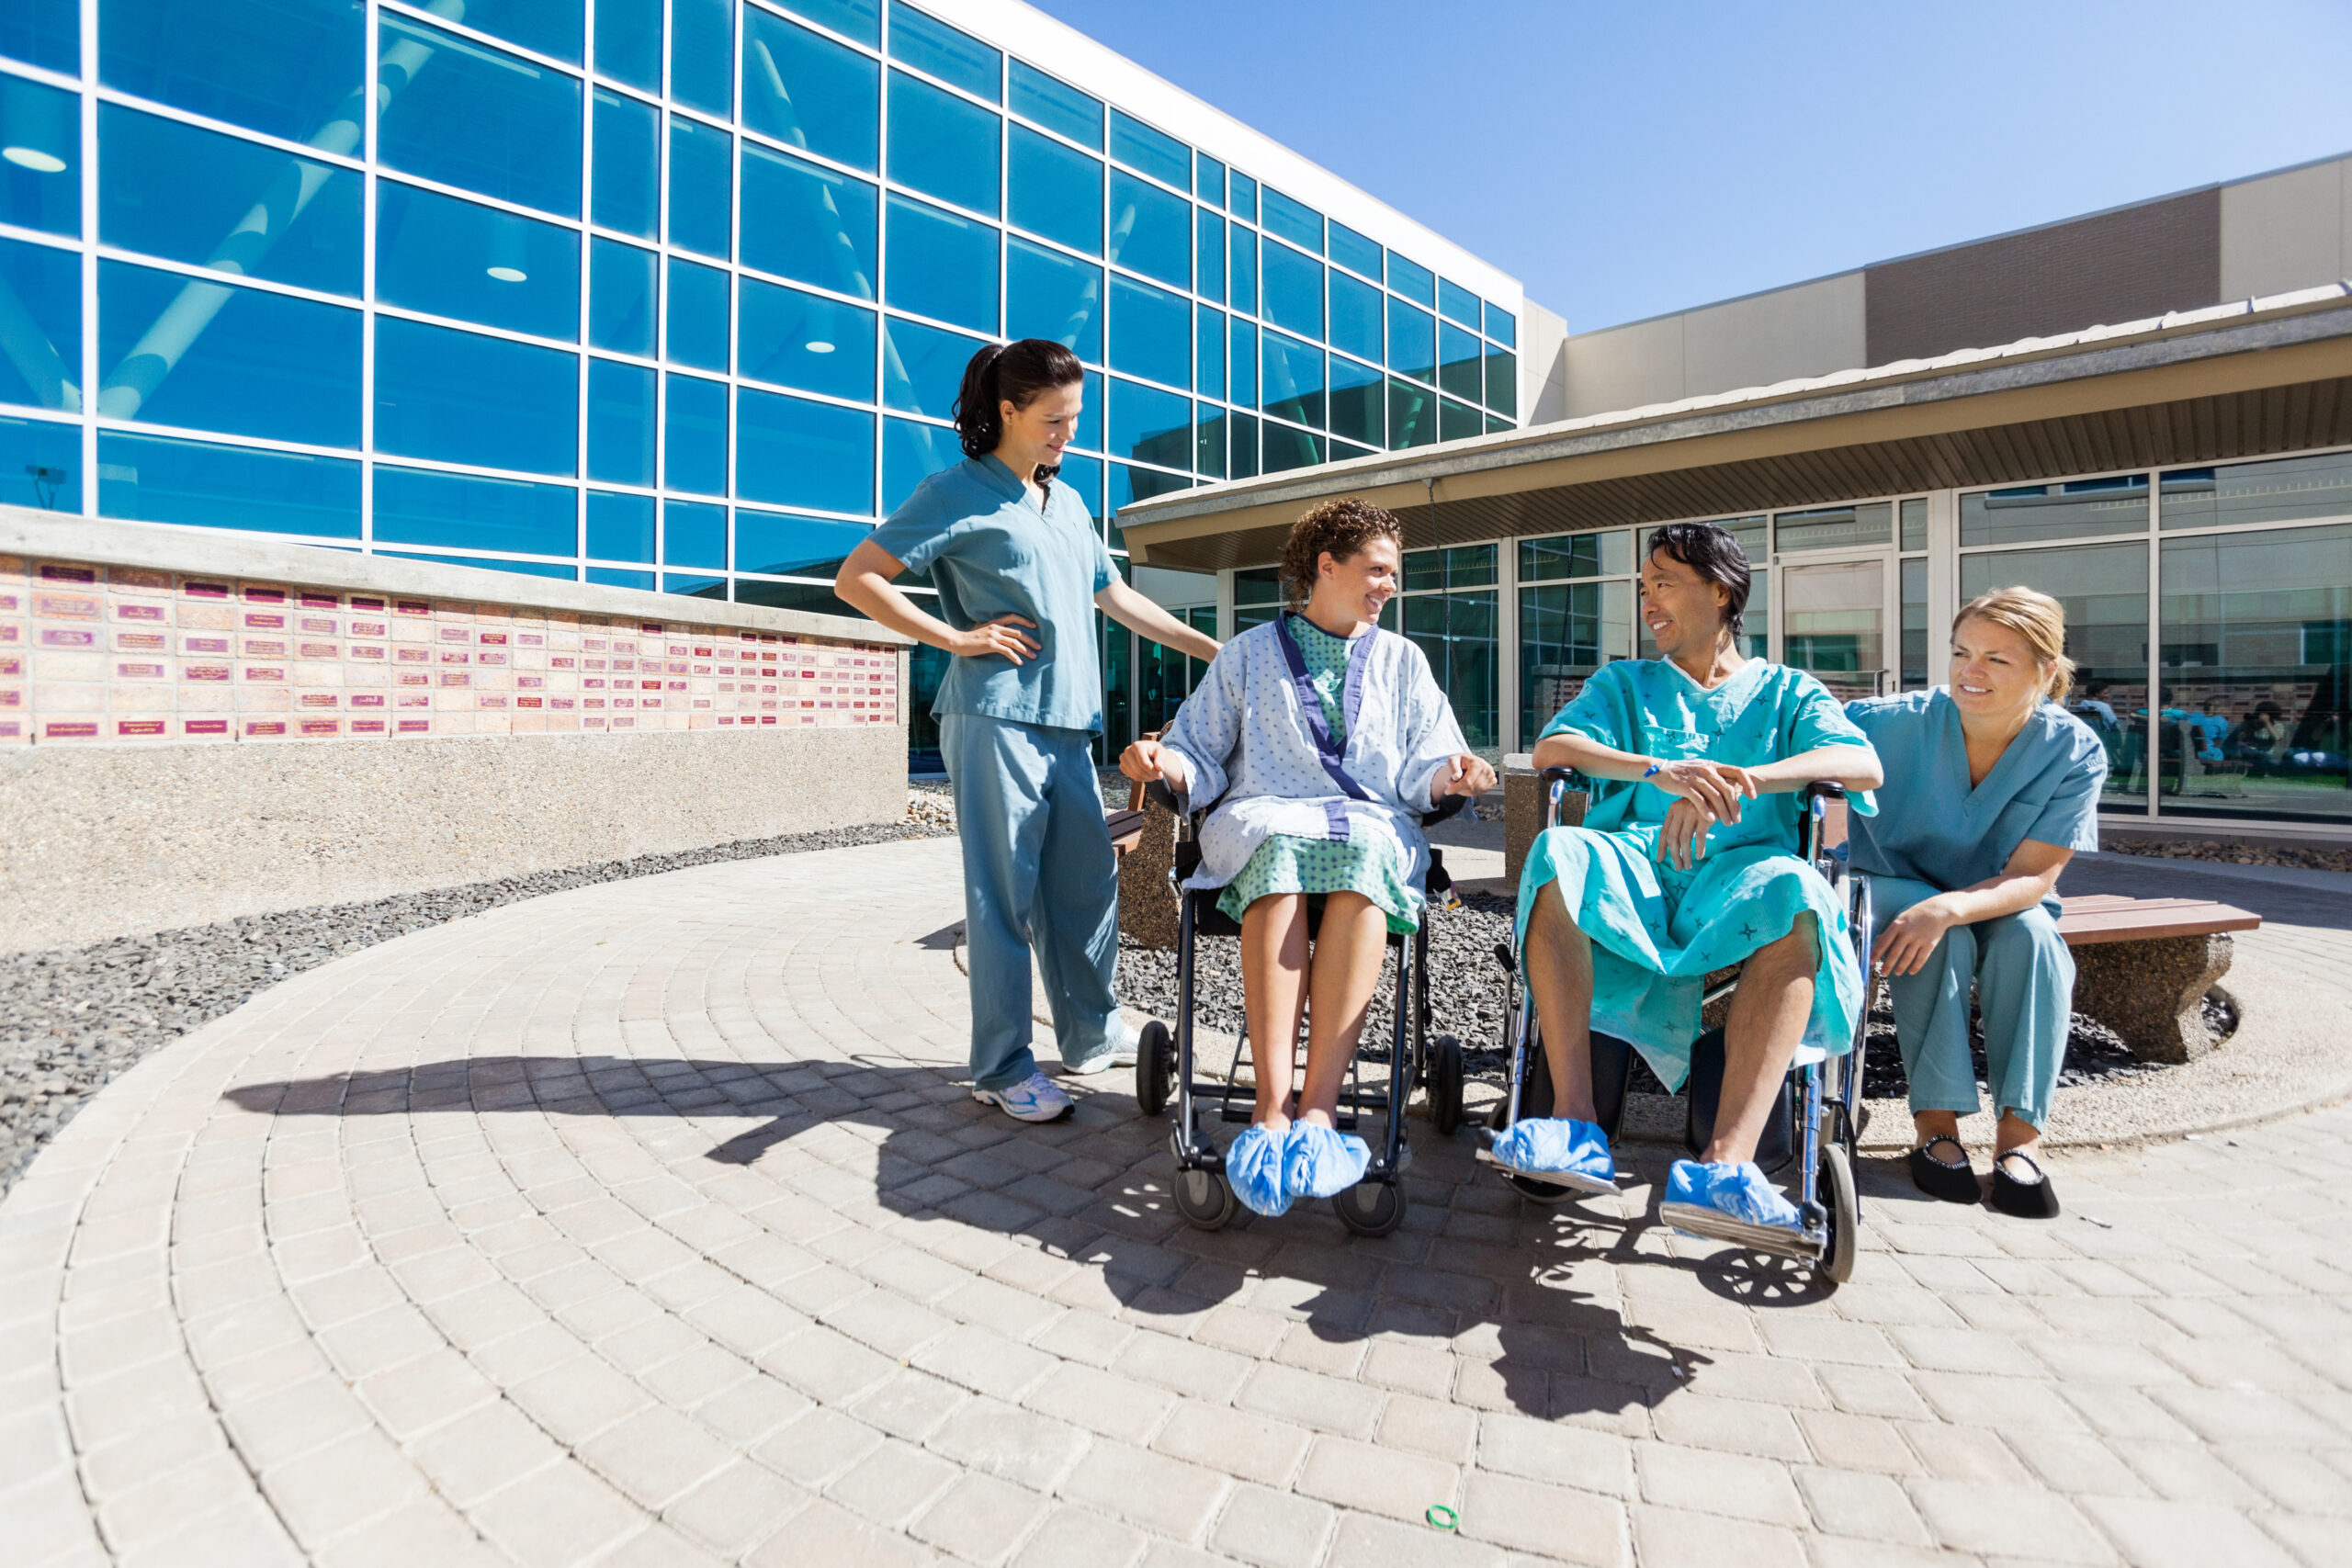
[[376,181],[376,299],[572,343],[581,237],[496,207]]

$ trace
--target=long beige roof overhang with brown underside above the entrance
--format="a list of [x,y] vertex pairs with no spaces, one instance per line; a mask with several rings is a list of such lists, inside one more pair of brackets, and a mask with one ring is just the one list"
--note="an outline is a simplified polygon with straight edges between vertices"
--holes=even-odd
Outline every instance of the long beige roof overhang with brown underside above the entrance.
[[1136,562],[1279,557],[1327,496],[1411,548],[2352,444],[2352,284],[1209,484],[1120,512]]

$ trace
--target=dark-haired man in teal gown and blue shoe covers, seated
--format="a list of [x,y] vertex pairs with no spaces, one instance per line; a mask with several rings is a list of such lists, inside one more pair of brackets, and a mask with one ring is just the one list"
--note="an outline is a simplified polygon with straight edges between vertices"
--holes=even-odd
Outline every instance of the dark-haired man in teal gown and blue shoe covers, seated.
[[1863,997],[1846,912],[1797,858],[1795,790],[1835,780],[1870,811],[1879,759],[1811,675],[1743,658],[1748,557],[1705,522],[1649,536],[1642,623],[1658,658],[1602,665],[1543,729],[1536,766],[1592,780],[1583,827],[1552,827],[1519,877],[1519,947],[1552,1072],[1552,1117],[1494,1145],[1503,1166],[1616,1192],[1595,1124],[1590,1030],[1632,1041],[1668,1086],[1691,1067],[1710,971],[1743,964],[1703,1159],[1675,1161],[1661,1215],[1750,1239],[1802,1229],[1755,1166],[1799,1044],[1853,1044]]

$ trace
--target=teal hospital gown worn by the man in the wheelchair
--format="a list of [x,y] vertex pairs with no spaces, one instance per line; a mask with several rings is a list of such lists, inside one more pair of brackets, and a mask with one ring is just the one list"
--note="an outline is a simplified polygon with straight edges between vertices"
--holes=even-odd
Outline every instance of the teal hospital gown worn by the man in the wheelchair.
[[[1870,741],[1820,682],[1752,661],[1712,691],[1675,663],[1628,658],[1604,665],[1545,736],[1576,733],[1656,759],[1703,757],[1762,766],[1825,745]],[[1853,1046],[1863,971],[1846,936],[1844,900],[1797,858],[1797,795],[1743,804],[1738,823],[1708,832],[1691,870],[1658,858],[1658,830],[1675,797],[1646,783],[1597,780],[1583,827],[1538,835],[1519,875],[1519,938],[1545,886],[1559,884],[1569,914],[1592,938],[1592,1027],[1632,1041],[1668,1086],[1682,1086],[1698,1037],[1710,971],[1729,969],[1820,922],[1820,966],[1804,1044],[1830,1056]],[[1875,811],[1867,792],[1853,797]]]

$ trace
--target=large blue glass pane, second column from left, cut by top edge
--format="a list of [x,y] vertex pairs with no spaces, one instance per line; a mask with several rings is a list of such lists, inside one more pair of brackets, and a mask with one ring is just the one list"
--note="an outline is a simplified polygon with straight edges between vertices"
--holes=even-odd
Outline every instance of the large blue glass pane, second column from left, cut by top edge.
[[[367,16],[360,0],[89,0],[108,87],[212,120],[358,153]],[[16,9],[16,0],[7,7]],[[386,85],[397,59],[386,59]],[[412,68],[412,66],[409,66]]]

